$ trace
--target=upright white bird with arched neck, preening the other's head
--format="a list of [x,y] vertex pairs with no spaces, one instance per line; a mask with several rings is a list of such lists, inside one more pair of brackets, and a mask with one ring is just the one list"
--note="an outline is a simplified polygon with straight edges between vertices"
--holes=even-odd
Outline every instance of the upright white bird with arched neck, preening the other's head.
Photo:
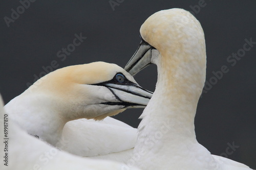
[[250,169],[211,155],[198,143],[194,118],[206,75],[204,32],[183,9],[156,12],[140,28],[142,41],[125,70],[135,75],[150,63],[158,80],[141,115],[129,164],[142,169]]

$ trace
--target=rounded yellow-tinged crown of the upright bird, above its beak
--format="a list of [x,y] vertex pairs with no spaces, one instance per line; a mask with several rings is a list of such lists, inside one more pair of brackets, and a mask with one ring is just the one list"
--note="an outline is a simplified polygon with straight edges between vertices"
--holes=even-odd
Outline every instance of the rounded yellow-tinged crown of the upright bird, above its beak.
[[[204,47],[204,33],[199,21],[183,9],[168,9],[148,17],[140,28],[143,40],[161,53],[180,53],[189,46]],[[189,51],[189,53],[191,53]]]

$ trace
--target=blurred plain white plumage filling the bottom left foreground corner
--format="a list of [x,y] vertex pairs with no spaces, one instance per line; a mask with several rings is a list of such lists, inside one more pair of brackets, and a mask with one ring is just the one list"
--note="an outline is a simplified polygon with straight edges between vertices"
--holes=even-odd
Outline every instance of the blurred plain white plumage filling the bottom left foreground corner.
[[[3,101],[0,95],[0,115],[3,120],[4,114],[7,114],[3,110]],[[5,161],[1,160],[0,169],[83,169],[83,170],[100,170],[100,169],[127,169],[125,164],[117,163],[114,161],[106,160],[93,160],[90,158],[81,158],[63,151],[60,151],[46,142],[43,142],[20,129],[19,126],[12,121],[12,119],[5,116],[5,120],[8,120],[8,139],[6,143],[1,141],[0,148],[2,153],[6,155]],[[1,128],[3,121],[1,122]],[[2,135],[2,134],[1,134]],[[2,138],[3,139],[3,138]],[[3,156],[4,156],[3,155]],[[2,157],[2,156],[1,156]],[[3,157],[2,157],[3,158]],[[5,165],[6,164],[6,165]],[[8,165],[8,166],[7,166]],[[137,169],[138,168],[132,168]]]

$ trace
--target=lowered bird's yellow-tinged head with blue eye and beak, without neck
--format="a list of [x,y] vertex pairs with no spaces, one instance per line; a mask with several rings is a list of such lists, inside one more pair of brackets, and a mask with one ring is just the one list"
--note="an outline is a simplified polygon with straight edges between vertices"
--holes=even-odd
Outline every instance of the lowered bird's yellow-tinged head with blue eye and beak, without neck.
[[123,68],[105,62],[57,69],[24,93],[42,96],[67,120],[103,119],[127,108],[144,108],[153,94]]

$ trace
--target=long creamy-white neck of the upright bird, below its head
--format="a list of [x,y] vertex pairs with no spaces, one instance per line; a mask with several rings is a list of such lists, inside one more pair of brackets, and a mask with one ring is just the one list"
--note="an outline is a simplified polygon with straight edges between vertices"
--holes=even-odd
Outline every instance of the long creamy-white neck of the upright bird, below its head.
[[[163,133],[159,140],[164,142],[161,144],[166,145],[169,145],[169,141],[196,142],[194,118],[203,86],[200,79],[205,73],[201,71],[202,75],[195,77],[193,71],[189,70],[194,63],[176,62],[172,67],[169,58],[159,57],[156,90],[141,116],[143,119],[139,126],[139,134],[144,136],[147,133],[154,135],[153,132]],[[168,69],[170,71],[166,71]],[[167,130],[161,132],[161,128]],[[139,135],[138,141],[140,137]]]

